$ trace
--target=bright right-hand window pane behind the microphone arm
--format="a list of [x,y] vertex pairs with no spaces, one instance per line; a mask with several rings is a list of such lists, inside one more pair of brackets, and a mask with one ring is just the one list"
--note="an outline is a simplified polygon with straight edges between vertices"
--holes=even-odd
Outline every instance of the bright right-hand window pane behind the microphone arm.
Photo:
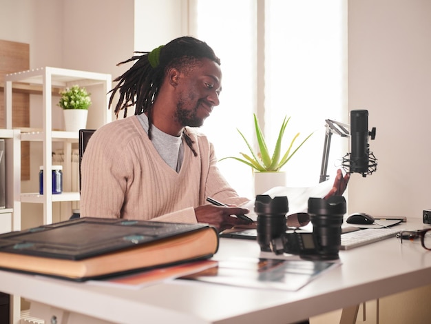
[[[287,139],[300,132],[300,143],[315,132],[283,169],[289,186],[313,185],[319,181],[325,119],[347,122],[344,0],[266,0],[265,12],[265,133],[275,142],[286,115]],[[329,175],[347,142],[334,136]]]

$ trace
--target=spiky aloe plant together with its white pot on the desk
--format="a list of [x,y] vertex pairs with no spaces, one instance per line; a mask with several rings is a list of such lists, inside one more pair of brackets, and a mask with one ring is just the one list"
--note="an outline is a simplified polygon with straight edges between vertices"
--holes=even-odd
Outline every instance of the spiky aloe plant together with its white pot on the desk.
[[[299,143],[299,145],[293,148],[295,141],[299,137],[298,132],[291,140],[287,150],[282,152],[282,140],[284,139],[284,132],[286,131],[288,122],[291,120],[291,117],[286,116],[282,122],[280,132],[278,133],[277,142],[275,143],[275,148],[271,154],[271,152],[269,152],[268,146],[266,145],[266,140],[260,128],[256,114],[253,114],[253,117],[259,152],[255,152],[255,150],[253,150],[253,147],[250,145],[250,142],[247,141],[244,134],[242,134],[242,132],[237,129],[249,148],[251,156],[249,154],[240,152],[242,158],[236,156],[227,156],[223,159],[220,159],[220,161],[224,159],[235,159],[241,163],[249,165],[254,174],[255,194],[262,194],[264,191],[275,187],[276,185],[285,185],[285,174],[281,171],[282,167],[292,158],[297,150],[299,150],[299,148],[304,145],[304,143],[310,138],[311,135],[313,135],[313,133],[306,136],[306,138],[301,143]],[[262,185],[260,183],[262,183]]]

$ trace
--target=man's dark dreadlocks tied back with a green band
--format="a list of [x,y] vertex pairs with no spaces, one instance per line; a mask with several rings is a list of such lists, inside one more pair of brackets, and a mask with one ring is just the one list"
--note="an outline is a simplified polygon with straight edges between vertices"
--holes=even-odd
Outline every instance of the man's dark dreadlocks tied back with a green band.
[[[112,105],[114,95],[118,92],[120,97],[114,111],[116,117],[118,117],[120,110],[124,110],[124,117],[126,117],[127,108],[132,105],[135,105],[135,115],[147,112],[148,137],[151,139],[153,125],[151,108],[157,98],[166,72],[170,68],[176,68],[180,71],[191,68],[198,60],[204,58],[211,59],[220,65],[220,59],[215,56],[213,49],[207,43],[193,37],[180,37],[166,45],[155,48],[151,52],[135,52],[135,54],[137,55],[117,64],[136,61],[132,68],[114,79],[118,83],[110,91],[109,108]],[[185,131],[182,134],[193,154],[197,156],[189,134]]]

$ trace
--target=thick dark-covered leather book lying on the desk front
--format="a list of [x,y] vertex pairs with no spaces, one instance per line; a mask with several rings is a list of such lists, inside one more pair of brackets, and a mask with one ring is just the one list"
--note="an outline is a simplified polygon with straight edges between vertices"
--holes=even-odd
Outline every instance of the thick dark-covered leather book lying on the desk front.
[[218,232],[203,224],[85,217],[0,235],[0,268],[85,281],[209,259]]

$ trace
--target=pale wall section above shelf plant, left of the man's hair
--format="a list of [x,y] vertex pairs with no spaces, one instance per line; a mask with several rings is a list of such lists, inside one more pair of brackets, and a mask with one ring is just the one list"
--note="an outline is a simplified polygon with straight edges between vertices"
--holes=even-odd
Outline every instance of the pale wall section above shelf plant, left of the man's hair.
[[134,0],[63,0],[65,68],[117,77],[134,51]]

